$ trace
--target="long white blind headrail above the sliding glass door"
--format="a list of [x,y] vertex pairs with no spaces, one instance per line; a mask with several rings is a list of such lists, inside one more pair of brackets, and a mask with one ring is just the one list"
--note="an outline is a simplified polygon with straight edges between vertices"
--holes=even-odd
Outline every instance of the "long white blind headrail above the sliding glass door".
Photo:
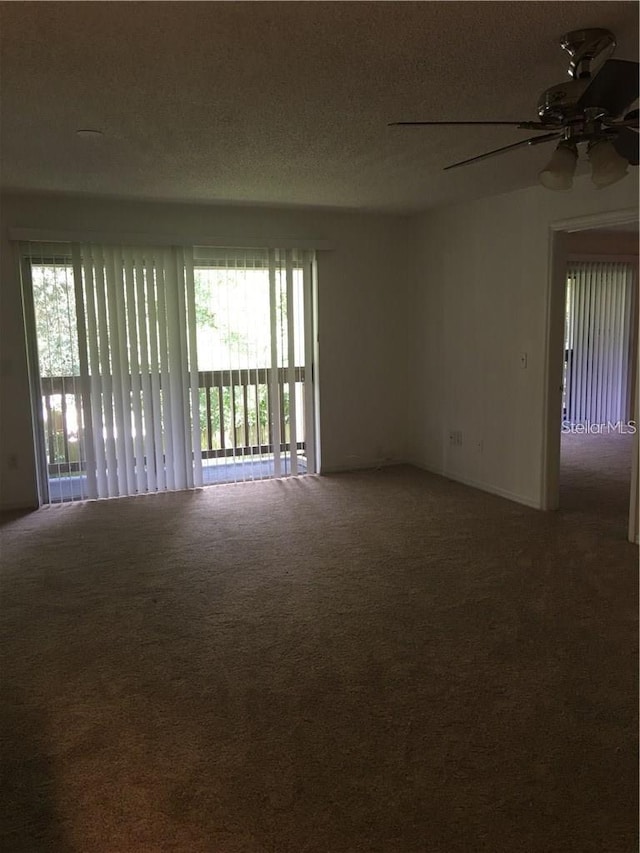
[[114,246],[197,246],[219,249],[316,249],[329,251],[327,240],[255,239],[228,236],[180,237],[175,234],[122,234],[105,231],[55,231],[42,228],[9,228],[9,240],[33,243],[100,243]]

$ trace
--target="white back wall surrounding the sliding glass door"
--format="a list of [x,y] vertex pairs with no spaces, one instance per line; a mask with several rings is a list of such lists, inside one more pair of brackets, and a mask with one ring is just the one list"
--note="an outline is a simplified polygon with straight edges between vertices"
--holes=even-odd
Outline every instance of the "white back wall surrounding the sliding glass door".
[[324,471],[406,458],[406,220],[323,210],[179,205],[54,195],[1,200],[0,507],[36,503],[19,282],[12,227],[328,240],[319,257],[320,432]]

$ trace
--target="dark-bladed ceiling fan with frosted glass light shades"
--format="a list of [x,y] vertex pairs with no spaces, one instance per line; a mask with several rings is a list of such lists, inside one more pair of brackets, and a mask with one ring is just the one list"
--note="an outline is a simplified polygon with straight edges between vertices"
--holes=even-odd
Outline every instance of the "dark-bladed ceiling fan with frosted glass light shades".
[[616,46],[613,33],[603,29],[574,30],[560,44],[571,57],[569,80],[546,89],[538,101],[538,121],[396,121],[399,126],[504,125],[532,130],[535,136],[445,166],[456,169],[516,148],[558,141],[551,160],[540,172],[549,189],[569,189],[578,161],[578,145],[586,143],[592,180],[604,187],[638,165],[637,62],[611,59]]

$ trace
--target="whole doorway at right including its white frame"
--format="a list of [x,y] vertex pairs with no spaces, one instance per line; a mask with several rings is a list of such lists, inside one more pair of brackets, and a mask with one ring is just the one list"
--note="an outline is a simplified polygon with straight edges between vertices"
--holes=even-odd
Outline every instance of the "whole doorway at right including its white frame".
[[552,230],[543,505],[637,541],[637,213]]

